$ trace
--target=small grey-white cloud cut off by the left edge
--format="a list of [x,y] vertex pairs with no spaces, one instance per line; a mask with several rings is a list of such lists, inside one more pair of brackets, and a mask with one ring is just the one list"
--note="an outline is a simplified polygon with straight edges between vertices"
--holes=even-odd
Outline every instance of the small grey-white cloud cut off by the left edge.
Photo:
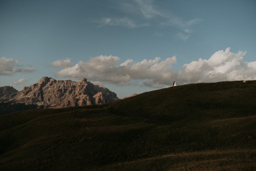
[[15,73],[31,73],[36,71],[34,68],[21,68],[17,60],[12,58],[0,58],[0,75],[13,75]]

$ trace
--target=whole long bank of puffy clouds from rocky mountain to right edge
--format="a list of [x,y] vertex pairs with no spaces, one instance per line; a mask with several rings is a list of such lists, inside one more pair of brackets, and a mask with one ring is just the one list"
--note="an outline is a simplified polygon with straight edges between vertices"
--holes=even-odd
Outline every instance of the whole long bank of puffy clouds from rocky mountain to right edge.
[[175,56],[161,60],[134,62],[128,59],[117,65],[117,56],[97,56],[87,62],[79,61],[72,67],[60,70],[57,77],[72,79],[87,78],[90,81],[111,83],[116,85],[139,85],[152,88],[162,88],[177,85],[218,82],[233,80],[256,80],[256,61],[244,62],[246,52],[230,52],[230,48],[215,52],[209,59],[198,59],[184,64],[180,71],[172,69],[176,63]]

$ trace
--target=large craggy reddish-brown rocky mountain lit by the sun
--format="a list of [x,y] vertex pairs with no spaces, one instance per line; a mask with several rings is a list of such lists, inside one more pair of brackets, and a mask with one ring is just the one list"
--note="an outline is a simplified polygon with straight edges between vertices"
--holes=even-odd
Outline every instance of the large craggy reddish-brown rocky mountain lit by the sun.
[[75,82],[43,77],[38,83],[24,87],[9,102],[37,104],[44,108],[63,108],[104,104],[117,99],[116,93],[103,86],[93,85],[85,78]]

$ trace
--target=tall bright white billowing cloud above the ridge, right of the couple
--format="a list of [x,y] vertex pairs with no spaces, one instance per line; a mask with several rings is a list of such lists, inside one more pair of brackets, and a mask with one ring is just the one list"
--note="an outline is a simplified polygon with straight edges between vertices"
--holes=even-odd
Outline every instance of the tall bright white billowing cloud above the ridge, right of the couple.
[[215,52],[208,60],[185,64],[176,80],[183,83],[256,80],[256,61],[244,62],[246,52],[230,52],[230,48]]

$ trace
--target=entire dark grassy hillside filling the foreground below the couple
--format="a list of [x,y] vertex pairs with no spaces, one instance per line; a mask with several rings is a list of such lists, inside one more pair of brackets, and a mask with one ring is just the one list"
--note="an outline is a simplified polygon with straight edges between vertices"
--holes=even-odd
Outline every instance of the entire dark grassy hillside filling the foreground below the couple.
[[0,116],[0,170],[256,170],[256,81]]

